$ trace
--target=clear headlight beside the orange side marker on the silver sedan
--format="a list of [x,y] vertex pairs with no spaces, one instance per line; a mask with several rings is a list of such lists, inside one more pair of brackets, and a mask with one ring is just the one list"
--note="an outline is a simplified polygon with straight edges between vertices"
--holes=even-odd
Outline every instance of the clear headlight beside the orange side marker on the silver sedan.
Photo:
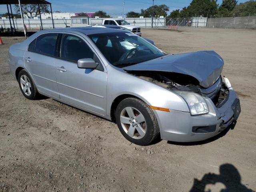
[[191,115],[202,115],[209,112],[206,101],[194,92],[176,91],[187,103]]

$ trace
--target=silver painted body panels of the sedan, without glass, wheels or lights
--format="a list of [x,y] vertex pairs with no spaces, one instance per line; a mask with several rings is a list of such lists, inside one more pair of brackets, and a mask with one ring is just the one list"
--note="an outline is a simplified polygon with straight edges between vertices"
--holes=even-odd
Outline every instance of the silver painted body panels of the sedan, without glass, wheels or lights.
[[[99,58],[104,71],[80,69],[75,63],[28,52],[30,42],[45,33],[68,33],[82,38]],[[16,70],[24,68],[34,80],[38,92],[111,120],[111,107],[118,96],[134,96],[146,104],[168,108],[170,112],[153,110],[156,115],[161,138],[188,142],[210,138],[218,134],[220,124],[233,116],[232,103],[237,98],[232,88],[227,102],[216,108],[206,98],[210,112],[191,116],[186,102],[175,92],[160,87],[108,63],[88,34],[116,32],[109,28],[60,28],[43,30],[30,36],[20,44],[10,46],[10,71],[16,77]],[[26,59],[29,58],[30,60]],[[170,55],[127,67],[126,70],[157,70],[188,74],[195,77],[200,85],[208,88],[218,79],[223,60],[212,51]],[[66,71],[59,70],[60,68]],[[192,133],[192,126],[217,125],[216,132]]]

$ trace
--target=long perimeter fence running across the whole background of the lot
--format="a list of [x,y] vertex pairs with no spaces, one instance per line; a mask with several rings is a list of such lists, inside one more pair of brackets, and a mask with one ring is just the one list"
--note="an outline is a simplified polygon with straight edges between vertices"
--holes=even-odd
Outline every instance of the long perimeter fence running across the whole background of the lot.
[[[109,18],[108,18],[109,19]],[[104,18],[89,18],[89,24],[102,24]],[[152,18],[125,18],[131,25],[150,28]],[[40,29],[41,23],[38,19],[24,19],[27,30]],[[55,28],[71,26],[70,19],[54,19]],[[51,19],[42,19],[43,28],[52,28]],[[10,28],[9,19],[0,19],[0,27]],[[21,19],[14,19],[16,29],[22,29]],[[12,22],[13,27],[13,22]],[[235,29],[256,29],[256,15],[252,14],[245,17],[223,17],[223,18],[153,18],[153,28],[178,28],[178,27],[205,27],[205,28],[235,28]]]

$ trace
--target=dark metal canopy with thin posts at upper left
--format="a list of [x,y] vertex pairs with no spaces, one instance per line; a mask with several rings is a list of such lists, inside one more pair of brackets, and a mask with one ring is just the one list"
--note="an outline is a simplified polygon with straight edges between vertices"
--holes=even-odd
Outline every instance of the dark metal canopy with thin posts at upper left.
[[[41,12],[40,12],[40,4],[49,4],[50,8],[51,8],[51,14],[52,14],[52,4],[46,0],[0,0],[0,5],[7,5],[7,11],[8,11],[8,16],[9,16],[9,21],[10,21],[10,26],[11,26],[11,30],[13,33],[13,28],[12,28],[12,22],[13,22],[13,26],[14,26],[14,31],[16,32],[15,29],[15,25],[14,25],[14,20],[13,20],[13,15],[12,15],[12,4],[19,4],[20,5],[20,14],[21,14],[21,18],[22,18],[22,22],[23,22],[23,29],[24,29],[24,35],[26,36],[26,27],[24,24],[24,18],[23,18],[23,14],[22,14],[22,8],[21,8],[21,4],[37,4],[38,5],[38,12],[40,15],[40,22],[41,22],[41,28],[43,30],[43,24],[42,24],[42,18],[41,18]],[[10,18],[10,12],[9,12],[9,6],[10,5],[10,10],[11,10],[11,15],[12,15],[12,22],[11,22],[11,18]],[[54,28],[54,22],[53,22],[53,17],[52,17],[52,26]]]

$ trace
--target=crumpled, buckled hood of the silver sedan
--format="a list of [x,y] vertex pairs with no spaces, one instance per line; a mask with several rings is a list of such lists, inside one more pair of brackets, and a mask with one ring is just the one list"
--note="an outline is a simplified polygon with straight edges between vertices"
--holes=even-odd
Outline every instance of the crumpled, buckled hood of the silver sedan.
[[129,71],[164,71],[186,74],[196,78],[204,88],[208,88],[220,77],[223,65],[223,59],[216,52],[198,51],[167,55],[124,67],[123,69]]

